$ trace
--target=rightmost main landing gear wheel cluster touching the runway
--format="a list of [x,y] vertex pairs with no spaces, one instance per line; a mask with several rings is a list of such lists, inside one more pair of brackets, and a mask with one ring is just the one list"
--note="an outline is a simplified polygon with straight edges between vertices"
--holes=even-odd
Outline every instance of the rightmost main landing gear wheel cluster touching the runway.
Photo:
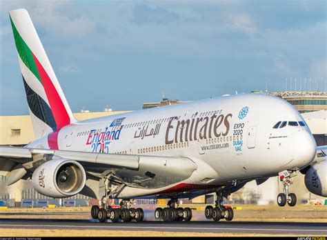
[[234,217],[234,211],[232,208],[226,208],[222,205],[223,196],[221,192],[217,192],[217,201],[215,204],[215,208],[212,206],[206,206],[206,210],[204,210],[204,214],[206,219],[212,219],[213,221],[219,221],[220,219],[226,219],[226,221],[232,221]]

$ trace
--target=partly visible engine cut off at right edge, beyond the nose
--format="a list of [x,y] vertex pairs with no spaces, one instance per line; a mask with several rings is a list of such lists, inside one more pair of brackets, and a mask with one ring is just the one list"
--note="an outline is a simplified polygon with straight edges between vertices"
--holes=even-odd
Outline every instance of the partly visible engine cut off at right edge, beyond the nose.
[[327,197],[327,160],[311,166],[304,177],[306,188],[321,197]]

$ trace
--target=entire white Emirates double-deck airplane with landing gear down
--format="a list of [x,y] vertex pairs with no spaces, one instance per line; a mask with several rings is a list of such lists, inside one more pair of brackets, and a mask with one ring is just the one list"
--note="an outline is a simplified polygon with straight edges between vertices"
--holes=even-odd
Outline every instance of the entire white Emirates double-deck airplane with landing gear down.
[[[177,199],[217,193],[206,217],[232,220],[223,197],[248,181],[279,175],[279,206],[295,206],[290,178],[308,174],[307,186],[326,196],[326,154],[317,149],[293,106],[264,94],[239,94],[77,121],[26,10],[10,12],[19,66],[37,140],[24,148],[1,147],[0,170],[10,183],[30,179],[48,197],[77,193],[102,199],[99,221],[143,220],[130,199],[171,199],[157,208],[165,221],[192,217]],[[314,160],[315,159],[315,160]],[[110,208],[108,198],[121,200]]]

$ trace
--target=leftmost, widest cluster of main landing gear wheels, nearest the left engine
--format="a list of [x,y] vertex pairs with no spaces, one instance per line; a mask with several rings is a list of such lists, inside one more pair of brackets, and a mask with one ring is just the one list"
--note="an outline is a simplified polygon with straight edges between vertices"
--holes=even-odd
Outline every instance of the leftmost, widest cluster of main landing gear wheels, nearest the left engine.
[[111,208],[111,206],[92,206],[91,216],[93,219],[99,219],[101,223],[110,219],[112,222],[121,221],[143,221],[144,212],[142,208],[130,208],[130,200],[123,199],[120,208]]

